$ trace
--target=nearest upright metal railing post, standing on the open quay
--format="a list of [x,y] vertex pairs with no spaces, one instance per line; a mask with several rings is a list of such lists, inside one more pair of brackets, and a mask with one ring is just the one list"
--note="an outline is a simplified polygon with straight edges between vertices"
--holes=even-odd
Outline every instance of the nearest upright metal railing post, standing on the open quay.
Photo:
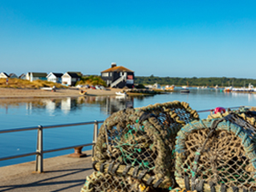
[[36,172],[44,172],[43,166],[43,126],[38,125],[38,144],[37,144],[37,159],[36,159]]

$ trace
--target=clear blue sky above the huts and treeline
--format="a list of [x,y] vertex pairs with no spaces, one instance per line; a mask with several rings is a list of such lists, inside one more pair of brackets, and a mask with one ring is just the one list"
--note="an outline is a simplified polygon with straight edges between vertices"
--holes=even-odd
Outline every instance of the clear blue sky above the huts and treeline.
[[256,79],[256,1],[0,0],[0,73]]

